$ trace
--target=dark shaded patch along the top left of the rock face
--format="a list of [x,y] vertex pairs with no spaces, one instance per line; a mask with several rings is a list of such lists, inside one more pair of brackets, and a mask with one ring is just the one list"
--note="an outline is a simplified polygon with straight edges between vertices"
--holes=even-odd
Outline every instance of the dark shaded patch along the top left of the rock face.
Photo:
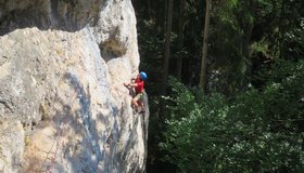
[[106,0],[0,0],[0,36],[18,28],[77,31],[87,26]]

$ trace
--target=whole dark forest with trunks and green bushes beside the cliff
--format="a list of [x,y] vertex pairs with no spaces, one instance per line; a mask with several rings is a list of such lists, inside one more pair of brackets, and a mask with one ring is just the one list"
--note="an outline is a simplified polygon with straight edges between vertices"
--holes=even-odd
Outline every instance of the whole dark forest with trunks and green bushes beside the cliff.
[[304,1],[132,0],[147,172],[304,172]]

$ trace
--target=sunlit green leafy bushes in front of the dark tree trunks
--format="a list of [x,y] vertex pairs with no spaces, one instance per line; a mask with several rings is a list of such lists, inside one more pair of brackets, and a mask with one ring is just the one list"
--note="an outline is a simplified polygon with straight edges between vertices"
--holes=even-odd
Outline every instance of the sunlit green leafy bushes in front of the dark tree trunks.
[[172,115],[160,144],[179,172],[304,170],[304,61],[265,71],[267,84],[233,98],[203,96],[172,80]]

